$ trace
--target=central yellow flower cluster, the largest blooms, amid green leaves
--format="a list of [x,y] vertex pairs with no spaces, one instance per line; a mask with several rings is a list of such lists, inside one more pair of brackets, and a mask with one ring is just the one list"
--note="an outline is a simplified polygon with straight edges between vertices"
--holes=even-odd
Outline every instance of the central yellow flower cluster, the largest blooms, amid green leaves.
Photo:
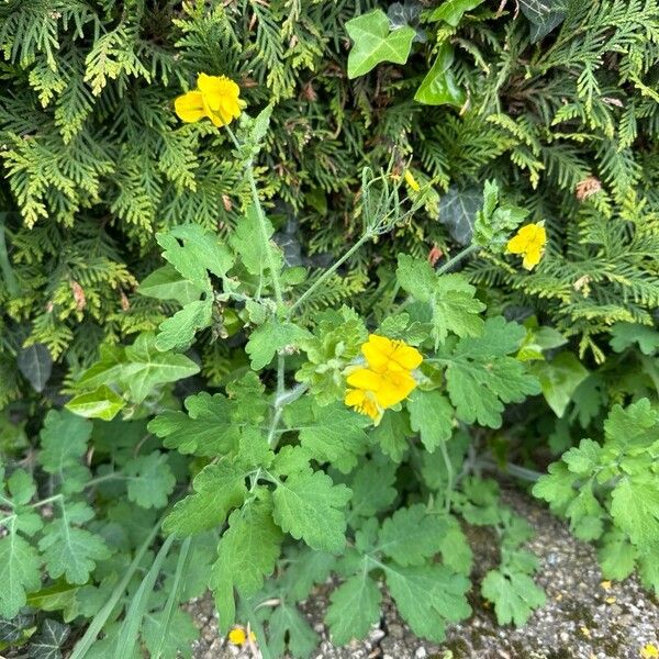
[[421,353],[402,340],[371,334],[361,346],[367,366],[351,369],[345,403],[376,424],[387,407],[406,399],[416,387],[412,371],[423,361]]

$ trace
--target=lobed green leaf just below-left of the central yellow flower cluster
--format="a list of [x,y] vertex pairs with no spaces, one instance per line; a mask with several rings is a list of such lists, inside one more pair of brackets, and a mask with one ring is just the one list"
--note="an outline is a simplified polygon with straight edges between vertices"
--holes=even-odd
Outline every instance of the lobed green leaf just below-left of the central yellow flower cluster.
[[286,422],[299,428],[300,443],[310,457],[330,462],[343,473],[349,473],[368,448],[368,418],[343,403],[319,407],[308,398],[300,399],[298,405],[287,409]]

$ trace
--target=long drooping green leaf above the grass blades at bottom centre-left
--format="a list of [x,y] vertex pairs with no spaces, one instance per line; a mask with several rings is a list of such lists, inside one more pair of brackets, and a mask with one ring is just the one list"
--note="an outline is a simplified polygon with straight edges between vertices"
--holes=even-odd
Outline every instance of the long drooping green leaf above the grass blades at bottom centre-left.
[[[256,594],[269,577],[281,552],[283,534],[272,522],[272,502],[268,499],[245,504],[228,518],[228,529],[217,546],[211,587],[220,602],[232,599],[235,588],[243,597]],[[217,593],[217,591],[223,591]],[[222,626],[228,628],[233,621],[222,615]]]

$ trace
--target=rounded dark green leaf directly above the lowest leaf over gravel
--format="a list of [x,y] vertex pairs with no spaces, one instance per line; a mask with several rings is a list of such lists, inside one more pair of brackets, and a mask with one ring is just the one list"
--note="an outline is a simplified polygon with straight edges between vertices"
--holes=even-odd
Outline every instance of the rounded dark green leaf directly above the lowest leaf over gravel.
[[444,517],[417,503],[384,520],[377,548],[400,566],[420,566],[439,551],[445,532]]

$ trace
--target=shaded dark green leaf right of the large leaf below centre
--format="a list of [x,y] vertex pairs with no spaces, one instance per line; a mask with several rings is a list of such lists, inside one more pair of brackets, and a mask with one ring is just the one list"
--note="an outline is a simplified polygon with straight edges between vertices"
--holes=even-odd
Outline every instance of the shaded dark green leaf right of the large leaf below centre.
[[379,465],[375,460],[365,462],[357,469],[350,482],[350,521],[356,517],[372,517],[386,511],[398,492],[395,483],[396,466],[392,462]]

